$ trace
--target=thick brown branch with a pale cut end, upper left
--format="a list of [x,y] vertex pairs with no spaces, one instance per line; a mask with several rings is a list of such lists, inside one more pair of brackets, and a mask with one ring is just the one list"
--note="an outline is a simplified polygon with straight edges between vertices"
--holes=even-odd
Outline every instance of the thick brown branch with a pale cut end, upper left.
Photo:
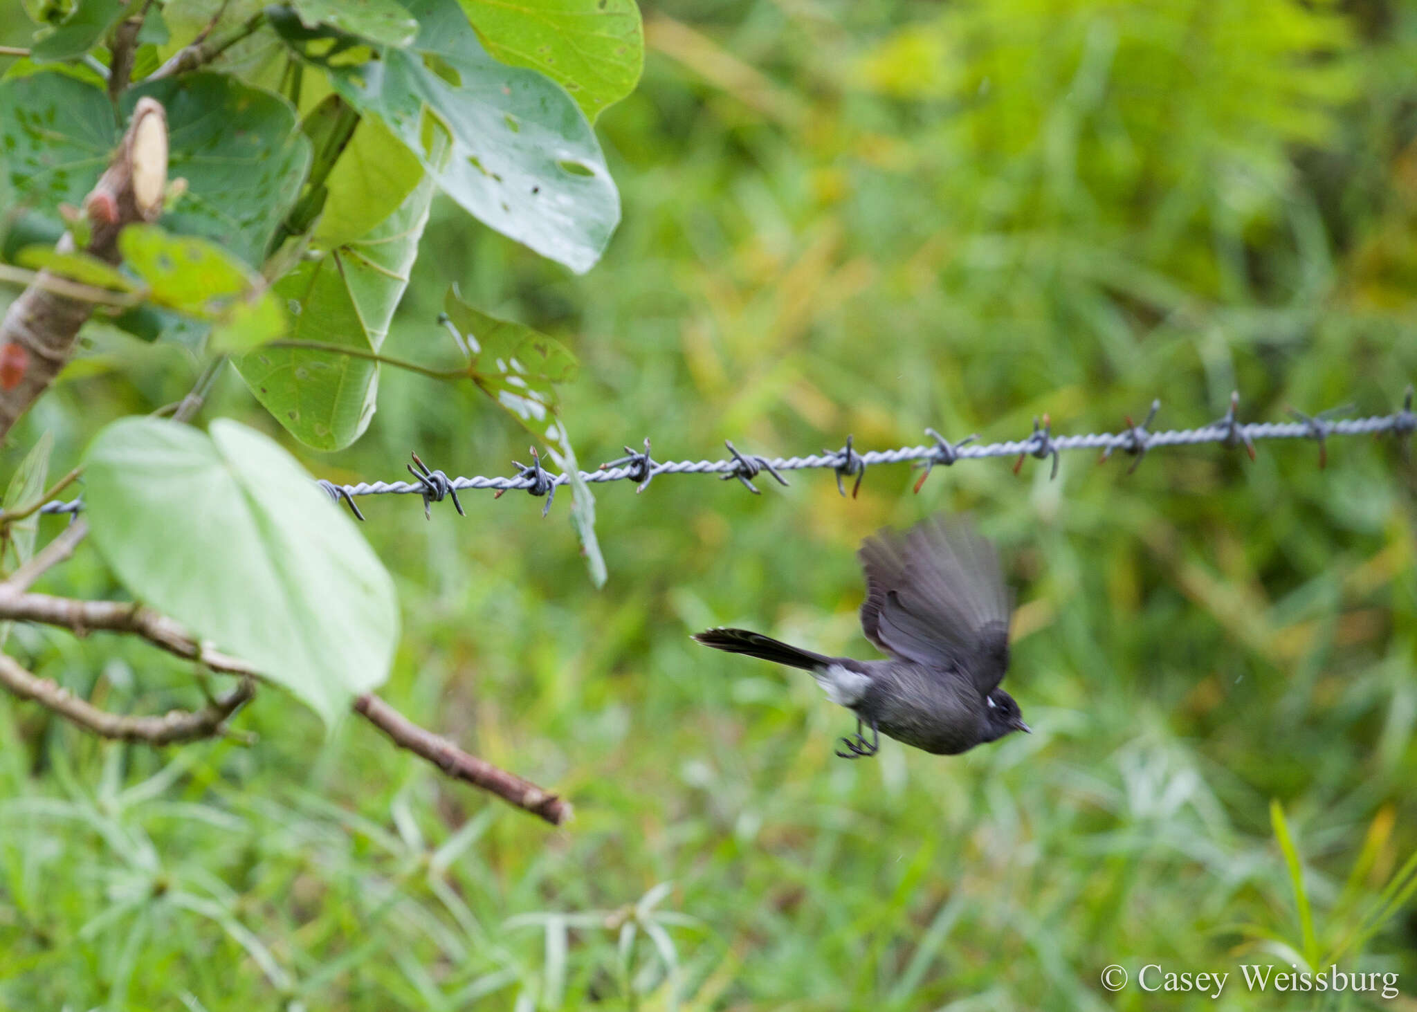
[[[113,162],[84,201],[88,211],[86,252],[119,262],[118,234],[135,221],[154,221],[163,211],[167,187],[167,113],[142,98]],[[72,232],[60,240],[60,252],[72,252]],[[91,302],[50,291],[55,275],[40,278],[20,293],[0,322],[0,354],[9,364],[0,377],[0,439],[16,420],[50,388],[74,353],[74,339],[94,312]]]

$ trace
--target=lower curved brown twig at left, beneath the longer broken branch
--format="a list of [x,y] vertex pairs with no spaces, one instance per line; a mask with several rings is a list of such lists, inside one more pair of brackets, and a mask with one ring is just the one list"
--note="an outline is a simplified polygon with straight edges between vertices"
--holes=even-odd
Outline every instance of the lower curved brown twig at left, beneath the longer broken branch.
[[4,653],[0,653],[0,685],[20,699],[34,700],[94,734],[122,741],[145,741],[150,746],[217,737],[225,731],[231,714],[255,695],[255,682],[247,678],[225,696],[200,710],[170,710],[162,716],[123,716],[101,710],[52,679],[30,673]]

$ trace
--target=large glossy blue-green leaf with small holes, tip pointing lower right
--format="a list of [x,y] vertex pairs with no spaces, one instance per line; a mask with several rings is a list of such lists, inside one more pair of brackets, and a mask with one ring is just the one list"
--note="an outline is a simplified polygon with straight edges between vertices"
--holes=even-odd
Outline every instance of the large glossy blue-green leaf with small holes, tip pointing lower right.
[[[585,116],[536,71],[487,55],[456,0],[410,0],[418,38],[360,67],[327,67],[465,210],[543,257],[584,272],[619,223],[619,194]],[[425,108],[452,139],[429,150]]]

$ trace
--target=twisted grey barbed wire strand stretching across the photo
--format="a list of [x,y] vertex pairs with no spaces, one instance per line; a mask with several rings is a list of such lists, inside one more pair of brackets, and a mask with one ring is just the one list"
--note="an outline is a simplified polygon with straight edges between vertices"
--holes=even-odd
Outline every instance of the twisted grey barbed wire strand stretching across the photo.
[[[581,471],[580,476],[588,483],[602,482],[636,482],[636,492],[643,492],[649,483],[662,475],[718,475],[723,480],[738,479],[750,492],[758,495],[760,489],[752,483],[762,472],[767,472],[778,483],[786,485],[784,471],[830,469],[836,472],[836,488],[846,495],[846,479],[854,478],[852,496],[854,497],[866,476],[866,469],[880,463],[905,463],[922,468],[924,473],[915,482],[915,492],[930,478],[931,471],[938,466],[951,466],[959,461],[982,459],[990,456],[1016,456],[1015,472],[1024,459],[1033,456],[1041,461],[1051,459],[1050,478],[1057,478],[1058,455],[1078,449],[1100,449],[1100,462],[1107,461],[1112,454],[1121,451],[1132,458],[1131,473],[1141,465],[1142,458],[1152,449],[1165,446],[1195,446],[1200,444],[1220,444],[1223,446],[1244,446],[1250,459],[1254,459],[1254,444],[1264,439],[1314,439],[1319,446],[1319,466],[1328,463],[1329,437],[1349,435],[1383,435],[1391,434],[1404,441],[1417,431],[1417,414],[1413,412],[1413,388],[1407,387],[1403,407],[1387,415],[1373,415],[1369,418],[1339,418],[1349,414],[1350,407],[1331,408],[1316,415],[1306,415],[1301,411],[1289,410],[1295,421],[1289,422],[1241,422],[1237,417],[1240,394],[1230,395],[1230,408],[1226,414],[1209,425],[1187,429],[1163,429],[1152,432],[1148,427],[1161,411],[1161,401],[1152,401],[1146,418],[1141,424],[1132,422],[1128,417],[1127,427],[1117,432],[1091,432],[1087,435],[1054,435],[1047,415],[1033,420],[1033,432],[1023,439],[1006,439],[1002,442],[979,444],[978,434],[965,437],[958,442],[945,439],[932,428],[925,429],[931,442],[917,446],[900,446],[897,449],[870,449],[859,452],[852,445],[852,437],[846,437],[842,449],[823,449],[820,454],[806,456],[762,456],[758,454],[740,452],[733,442],[724,439],[728,456],[720,461],[656,461],[650,456],[649,439],[645,439],[645,449],[625,448],[625,456],[608,463],[602,463],[595,471]],[[1403,446],[1406,452],[1406,444]],[[431,505],[452,499],[459,515],[463,515],[459,492],[492,490],[495,497],[502,497],[504,492],[524,490],[533,496],[546,496],[546,507],[541,515],[551,509],[555,490],[567,485],[571,479],[565,473],[553,473],[541,466],[541,458],[531,449],[531,463],[513,461],[517,468],[510,476],[473,476],[449,478],[442,471],[429,468],[419,458],[412,455],[414,463],[408,465],[412,475],[411,482],[359,482],[356,485],[337,485],[320,479],[317,483],[334,502],[344,502],[360,520],[360,513],[354,503],[357,496],[378,495],[417,495],[424,500],[424,515],[431,515]],[[415,466],[417,465],[417,466]],[[78,513],[84,509],[82,499],[68,502],[50,502],[40,507],[41,513]]]

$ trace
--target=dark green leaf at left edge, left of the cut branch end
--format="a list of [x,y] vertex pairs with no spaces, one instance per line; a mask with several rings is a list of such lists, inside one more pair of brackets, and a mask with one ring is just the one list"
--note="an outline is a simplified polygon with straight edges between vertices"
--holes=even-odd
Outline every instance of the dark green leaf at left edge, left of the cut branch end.
[[0,157],[21,207],[57,221],[61,203],[82,204],[118,136],[102,88],[58,69],[0,81]]

